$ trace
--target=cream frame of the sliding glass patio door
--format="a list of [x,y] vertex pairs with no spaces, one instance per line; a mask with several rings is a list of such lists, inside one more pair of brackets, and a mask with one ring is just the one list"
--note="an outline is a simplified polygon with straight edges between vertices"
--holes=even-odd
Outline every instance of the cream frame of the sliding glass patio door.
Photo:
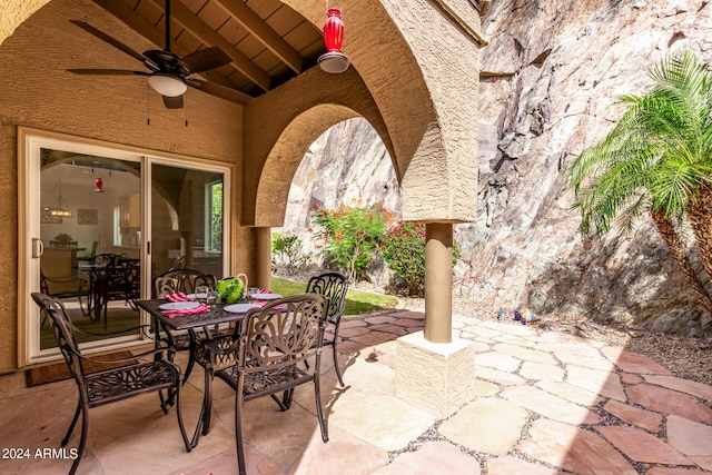
[[[144,296],[150,295],[150,185],[151,164],[196,168],[214,169],[224,174],[224,237],[222,237],[222,266],[230,268],[230,229],[233,196],[231,177],[235,166],[231,164],[206,160],[177,154],[161,154],[138,147],[118,145],[108,141],[88,139],[60,132],[52,132],[29,127],[18,127],[18,367],[57,360],[61,358],[59,348],[40,349],[40,314],[39,307],[31,298],[31,293],[39,291],[40,259],[38,245],[33,238],[39,239],[40,231],[40,158],[39,150],[44,148],[58,148],[76,151],[78,154],[98,155],[115,159],[129,159],[141,162],[141,291]],[[32,256],[37,257],[32,257]],[[141,323],[148,323],[149,317],[141,311]],[[141,334],[118,338],[110,338],[81,344],[82,352],[87,354],[107,352],[145,345],[146,337]]]

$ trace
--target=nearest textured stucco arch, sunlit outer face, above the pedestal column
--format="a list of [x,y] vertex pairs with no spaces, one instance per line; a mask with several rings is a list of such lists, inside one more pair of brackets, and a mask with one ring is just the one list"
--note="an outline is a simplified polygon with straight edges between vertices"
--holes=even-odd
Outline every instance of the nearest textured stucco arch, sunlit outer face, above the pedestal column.
[[[324,23],[322,0],[284,3],[316,26]],[[477,133],[472,123],[482,46],[471,34],[479,31],[476,10],[459,0],[350,0],[343,14],[343,50],[393,144],[404,218],[473,221]]]

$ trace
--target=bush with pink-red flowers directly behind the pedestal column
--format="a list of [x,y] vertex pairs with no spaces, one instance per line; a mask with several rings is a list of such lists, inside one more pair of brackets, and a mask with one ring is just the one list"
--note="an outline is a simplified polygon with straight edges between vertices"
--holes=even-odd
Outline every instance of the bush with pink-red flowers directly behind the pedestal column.
[[[408,295],[421,295],[425,285],[425,224],[398,221],[382,244],[383,260],[403,279]],[[453,264],[459,247],[453,240]]]

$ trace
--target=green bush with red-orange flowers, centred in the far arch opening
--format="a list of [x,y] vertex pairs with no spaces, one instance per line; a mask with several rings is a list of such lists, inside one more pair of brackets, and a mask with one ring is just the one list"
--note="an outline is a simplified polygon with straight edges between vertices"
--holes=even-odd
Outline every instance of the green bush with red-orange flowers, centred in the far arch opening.
[[377,205],[374,208],[342,205],[338,210],[317,211],[314,220],[317,237],[326,244],[326,257],[354,283],[374,260],[389,217]]

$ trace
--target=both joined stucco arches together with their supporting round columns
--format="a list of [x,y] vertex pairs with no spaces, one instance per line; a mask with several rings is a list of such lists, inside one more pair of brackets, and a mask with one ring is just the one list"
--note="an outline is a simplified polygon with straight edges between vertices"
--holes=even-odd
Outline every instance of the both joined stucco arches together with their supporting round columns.
[[[323,22],[320,0],[284,3],[315,26]],[[373,117],[360,115],[374,125],[394,161],[403,218],[428,222],[426,246],[437,250],[426,253],[425,337],[449,343],[452,224],[474,221],[477,209],[472,123],[483,46],[479,20],[463,1],[353,0],[344,21],[343,51],[353,65],[348,73],[309,71],[246,109],[243,217],[257,227],[258,280],[267,281],[269,226],[284,222],[289,184],[307,147],[364,109]]]

